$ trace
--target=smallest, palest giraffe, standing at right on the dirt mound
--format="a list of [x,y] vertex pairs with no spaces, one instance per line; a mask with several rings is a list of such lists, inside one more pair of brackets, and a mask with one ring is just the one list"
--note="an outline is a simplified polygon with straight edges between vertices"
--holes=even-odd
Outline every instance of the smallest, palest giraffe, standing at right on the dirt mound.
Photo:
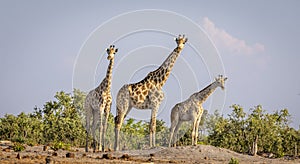
[[192,121],[192,145],[197,145],[199,123],[204,111],[202,104],[217,87],[221,87],[224,90],[226,80],[227,77],[224,78],[222,75],[219,75],[213,83],[192,94],[187,100],[176,104],[172,108],[169,147],[176,146],[177,132],[184,121]]

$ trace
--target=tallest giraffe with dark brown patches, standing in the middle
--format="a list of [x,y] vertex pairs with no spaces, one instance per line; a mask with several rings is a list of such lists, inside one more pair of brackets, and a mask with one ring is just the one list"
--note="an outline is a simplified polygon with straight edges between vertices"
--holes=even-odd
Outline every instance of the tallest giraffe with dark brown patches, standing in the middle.
[[115,117],[115,146],[114,149],[119,150],[119,133],[124,118],[134,107],[136,109],[150,109],[150,147],[155,146],[156,131],[156,115],[161,102],[164,99],[162,87],[167,81],[170,72],[184,48],[187,38],[179,35],[175,38],[177,47],[156,70],[148,73],[148,75],[140,82],[133,84],[125,84],[117,95],[117,115]]

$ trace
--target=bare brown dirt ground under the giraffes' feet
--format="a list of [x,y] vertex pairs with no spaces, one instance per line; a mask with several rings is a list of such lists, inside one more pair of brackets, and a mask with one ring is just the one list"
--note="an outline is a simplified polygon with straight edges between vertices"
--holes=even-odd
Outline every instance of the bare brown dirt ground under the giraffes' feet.
[[24,151],[14,152],[12,143],[3,142],[0,143],[0,163],[228,163],[231,158],[239,163],[300,163],[300,159],[254,157],[209,145],[97,153],[86,153],[84,148],[43,149],[44,146],[26,146]]

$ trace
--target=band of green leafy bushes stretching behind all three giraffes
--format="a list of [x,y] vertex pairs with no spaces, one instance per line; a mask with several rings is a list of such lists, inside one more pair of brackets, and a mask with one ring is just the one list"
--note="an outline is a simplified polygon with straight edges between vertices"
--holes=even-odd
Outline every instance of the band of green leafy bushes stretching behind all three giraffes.
[[[83,102],[85,94],[74,90],[73,96],[57,92],[54,101],[46,102],[43,108],[35,107],[29,114],[17,116],[6,114],[0,118],[0,140],[16,143],[14,150],[24,150],[23,144],[50,144],[52,149],[81,147],[85,144],[85,119]],[[243,154],[272,153],[275,157],[298,156],[300,131],[289,126],[291,116],[287,109],[267,113],[258,105],[244,112],[240,105],[232,105],[228,117],[204,112],[199,143],[227,148]],[[107,144],[114,143],[114,119],[109,116]],[[163,120],[157,120],[157,146],[167,146],[169,128]],[[189,130],[187,130],[189,129]],[[121,148],[143,149],[148,146],[149,122],[128,119],[121,129]],[[190,145],[190,125],[182,125],[182,137],[177,145]],[[254,148],[257,147],[257,152]],[[234,162],[234,159],[232,159]]]

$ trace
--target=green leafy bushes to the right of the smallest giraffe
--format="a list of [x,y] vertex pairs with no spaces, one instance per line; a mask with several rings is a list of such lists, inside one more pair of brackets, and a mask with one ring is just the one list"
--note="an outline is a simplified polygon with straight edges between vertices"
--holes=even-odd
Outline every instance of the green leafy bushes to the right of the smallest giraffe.
[[246,114],[239,105],[231,108],[228,118],[218,113],[209,116],[208,144],[252,155],[273,153],[282,157],[299,152],[300,131],[289,127],[287,109],[266,113],[258,105]]

